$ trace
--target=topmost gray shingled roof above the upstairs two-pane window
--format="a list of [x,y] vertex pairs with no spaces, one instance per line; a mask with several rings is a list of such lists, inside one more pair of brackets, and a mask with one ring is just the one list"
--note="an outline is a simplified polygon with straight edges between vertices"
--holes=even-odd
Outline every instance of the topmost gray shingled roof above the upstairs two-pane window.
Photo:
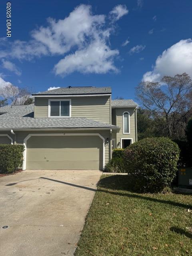
[[86,87],[61,87],[54,90],[49,90],[45,92],[39,92],[35,95],[66,95],[66,94],[109,94],[111,93],[111,87],[94,87],[94,86],[86,86]]

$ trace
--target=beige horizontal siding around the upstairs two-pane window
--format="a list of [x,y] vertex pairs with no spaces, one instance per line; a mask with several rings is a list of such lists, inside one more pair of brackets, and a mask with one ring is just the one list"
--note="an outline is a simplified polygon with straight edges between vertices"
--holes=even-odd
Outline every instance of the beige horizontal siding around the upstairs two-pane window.
[[[48,99],[36,98],[35,118],[48,117]],[[70,99],[71,117],[86,117],[110,124],[110,96],[71,97]]]

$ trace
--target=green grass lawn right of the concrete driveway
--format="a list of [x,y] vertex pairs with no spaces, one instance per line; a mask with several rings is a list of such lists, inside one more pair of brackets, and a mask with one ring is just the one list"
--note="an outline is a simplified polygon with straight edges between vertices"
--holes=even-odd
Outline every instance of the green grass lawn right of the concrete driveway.
[[102,176],[75,256],[192,255],[192,195],[131,192],[128,176]]

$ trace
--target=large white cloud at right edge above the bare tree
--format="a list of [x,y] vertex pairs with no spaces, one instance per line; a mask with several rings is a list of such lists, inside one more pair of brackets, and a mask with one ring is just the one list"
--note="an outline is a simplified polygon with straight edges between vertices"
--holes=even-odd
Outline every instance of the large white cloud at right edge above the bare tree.
[[192,78],[192,39],[180,40],[158,56],[152,71],[143,75],[144,81],[158,81],[163,76],[186,72]]

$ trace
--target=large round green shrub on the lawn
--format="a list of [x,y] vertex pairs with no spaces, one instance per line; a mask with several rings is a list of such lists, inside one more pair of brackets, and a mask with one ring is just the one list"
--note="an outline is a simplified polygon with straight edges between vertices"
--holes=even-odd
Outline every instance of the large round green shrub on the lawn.
[[169,138],[145,138],[125,150],[126,169],[134,177],[134,190],[161,192],[177,172],[180,149]]

